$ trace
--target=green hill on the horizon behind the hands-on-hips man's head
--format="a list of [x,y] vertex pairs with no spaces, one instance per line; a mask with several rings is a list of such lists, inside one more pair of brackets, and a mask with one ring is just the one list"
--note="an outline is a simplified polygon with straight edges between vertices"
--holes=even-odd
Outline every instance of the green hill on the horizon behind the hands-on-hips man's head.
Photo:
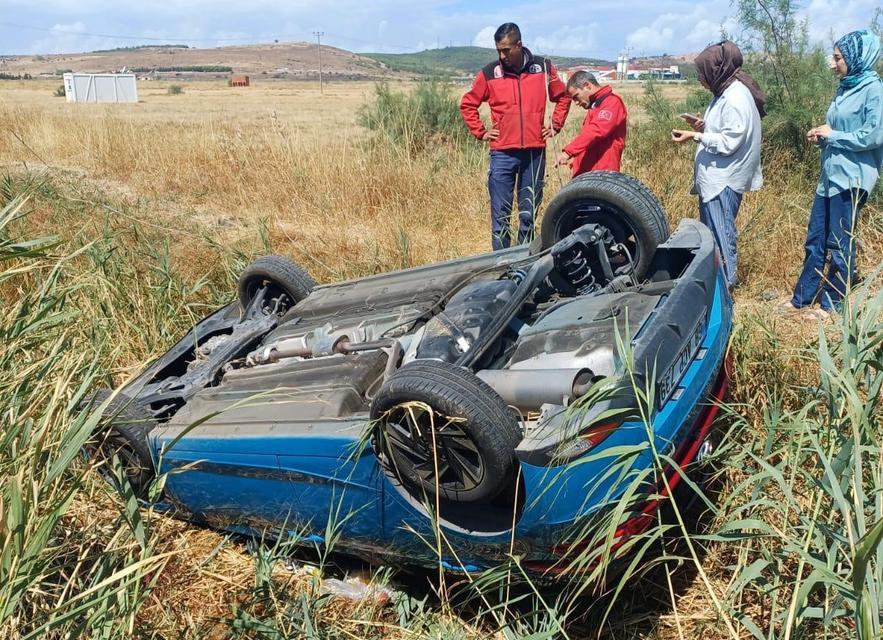
[[[363,53],[361,55],[376,60],[390,71],[416,75],[461,76],[474,74],[488,62],[495,60],[497,52],[486,47],[445,47],[443,49],[427,49],[419,53]],[[597,58],[562,56],[550,56],[550,58],[559,67],[612,64]]]

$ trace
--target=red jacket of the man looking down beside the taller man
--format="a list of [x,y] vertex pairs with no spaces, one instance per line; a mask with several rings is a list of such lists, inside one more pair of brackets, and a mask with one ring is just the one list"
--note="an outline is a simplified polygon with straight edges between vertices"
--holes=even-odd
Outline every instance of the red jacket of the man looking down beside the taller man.
[[563,151],[573,160],[573,177],[587,171],[619,171],[628,111],[610,85],[590,96],[582,129]]

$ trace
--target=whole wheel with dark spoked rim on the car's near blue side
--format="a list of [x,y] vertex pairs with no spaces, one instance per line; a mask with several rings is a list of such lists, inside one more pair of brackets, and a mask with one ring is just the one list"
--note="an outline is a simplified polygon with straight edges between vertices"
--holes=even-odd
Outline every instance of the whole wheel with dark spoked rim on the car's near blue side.
[[411,362],[380,387],[371,418],[381,463],[419,499],[438,494],[450,502],[487,503],[515,477],[518,421],[471,371]]

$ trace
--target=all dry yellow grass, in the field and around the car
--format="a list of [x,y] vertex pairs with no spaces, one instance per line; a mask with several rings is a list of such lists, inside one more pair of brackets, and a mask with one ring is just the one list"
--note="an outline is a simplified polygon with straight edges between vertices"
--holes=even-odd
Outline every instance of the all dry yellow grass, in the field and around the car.
[[[318,87],[307,83],[253,89],[199,83],[185,85],[178,96],[167,95],[162,83],[150,83],[139,85],[139,104],[115,106],[68,105],[51,96],[54,86],[0,83],[0,173],[47,172],[59,197],[82,214],[72,220],[69,212],[41,200],[28,222],[34,233],[57,232],[76,243],[109,227],[127,242],[167,241],[172,267],[186,282],[208,274],[229,283],[231,252],[248,256],[268,245],[325,282],[488,248],[484,154],[463,156],[442,147],[410,158],[367,144],[355,114],[369,98],[368,84],[326,85],[320,99]],[[684,90],[671,91],[682,97]],[[626,87],[623,95],[640,121],[639,89]],[[575,108],[550,158],[581,117]],[[624,171],[660,196],[673,225],[696,215],[695,197],[689,195],[692,152],[664,136],[635,141],[635,151],[627,147]],[[546,201],[569,177],[551,168],[549,173]],[[792,357],[792,350],[818,335],[814,324],[779,317],[760,297],[768,290],[784,294],[796,278],[813,190],[811,178],[789,167],[785,154],[767,156],[765,174],[767,186],[746,198],[738,220],[742,287],[735,340],[744,379],[736,379],[735,397],[754,407],[755,417],[768,401],[758,381],[782,375],[812,379],[814,369]],[[872,203],[865,219],[880,213]],[[144,235],[127,231],[135,226]],[[880,227],[865,225],[862,240],[867,270],[883,247]],[[123,338],[114,362],[135,367],[168,346],[163,339],[145,347]],[[112,374],[119,380],[125,370]],[[75,526],[103,517],[93,505],[93,500],[76,503]],[[160,522],[158,550],[176,555],[141,617],[168,637],[223,637],[219,622],[252,587],[253,559],[240,543],[218,534]],[[727,588],[725,565],[733,560],[726,548],[706,559],[720,593]],[[292,576],[280,573],[278,579]],[[308,578],[298,580],[297,589],[308,588]],[[644,631],[636,633],[727,637],[705,589],[695,582],[682,585],[673,612],[653,620],[638,617],[633,628]],[[340,616],[359,618],[351,608]],[[389,637],[407,637],[378,616]],[[360,624],[347,626],[353,637]],[[472,637],[485,633],[452,624]]]

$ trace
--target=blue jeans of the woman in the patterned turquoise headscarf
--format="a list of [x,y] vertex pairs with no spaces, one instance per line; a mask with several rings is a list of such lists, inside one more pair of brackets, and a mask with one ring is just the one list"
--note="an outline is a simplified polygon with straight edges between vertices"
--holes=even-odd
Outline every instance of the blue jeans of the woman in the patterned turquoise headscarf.
[[[803,270],[791,298],[795,307],[808,307],[818,300],[826,311],[840,308],[844,294],[855,280],[852,229],[867,199],[868,192],[862,189],[841,191],[830,198],[816,194],[806,229]],[[828,254],[831,260],[823,283]]]

